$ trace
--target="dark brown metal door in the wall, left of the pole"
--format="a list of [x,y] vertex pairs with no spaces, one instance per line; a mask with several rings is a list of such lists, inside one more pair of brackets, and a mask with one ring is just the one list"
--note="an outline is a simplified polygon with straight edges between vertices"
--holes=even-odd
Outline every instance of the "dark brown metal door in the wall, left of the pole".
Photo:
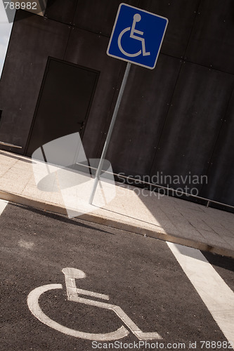
[[82,138],[99,72],[49,58],[34,115],[27,155],[64,135]]

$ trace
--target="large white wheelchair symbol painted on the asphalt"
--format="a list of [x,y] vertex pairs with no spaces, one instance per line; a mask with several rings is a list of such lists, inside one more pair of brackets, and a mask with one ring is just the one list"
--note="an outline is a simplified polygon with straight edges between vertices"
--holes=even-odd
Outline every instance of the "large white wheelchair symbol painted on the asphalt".
[[[82,279],[86,277],[86,274],[82,270],[77,270],[75,268],[64,268],[62,272],[65,274],[65,284],[67,288],[68,300],[114,311],[115,314],[117,314],[122,322],[131,330],[132,333],[134,333],[134,335],[139,340],[162,339],[162,336],[160,336],[160,334],[156,331],[150,333],[144,333],[141,331],[141,329],[136,326],[136,324],[129,318],[129,316],[122,310],[121,307],[117,305],[111,305],[110,303],[101,303],[99,301],[79,297],[79,295],[86,295],[93,296],[95,298],[102,298],[103,300],[109,300],[109,296],[104,295],[103,293],[95,293],[93,291],[77,288],[75,279]],[[129,335],[129,331],[125,328],[125,326],[121,326],[119,329],[112,331],[111,333],[84,333],[82,331],[76,331],[74,329],[67,328],[66,326],[62,326],[61,324],[53,321],[48,316],[46,316],[46,314],[44,314],[44,312],[41,310],[41,307],[39,306],[40,296],[46,291],[53,289],[63,289],[63,286],[62,284],[48,284],[39,286],[38,288],[32,290],[27,296],[27,305],[30,311],[42,323],[50,326],[53,329],[56,329],[57,331],[60,331],[61,333],[86,340],[117,340]]]

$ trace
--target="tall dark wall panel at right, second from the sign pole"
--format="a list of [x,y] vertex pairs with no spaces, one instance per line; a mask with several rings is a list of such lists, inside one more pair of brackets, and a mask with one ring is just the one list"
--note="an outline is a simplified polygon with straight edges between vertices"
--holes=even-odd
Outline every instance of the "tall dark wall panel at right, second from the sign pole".
[[[233,82],[234,77],[230,74],[183,64],[152,175],[157,171],[183,177],[207,174]],[[201,186],[197,185],[197,188]]]

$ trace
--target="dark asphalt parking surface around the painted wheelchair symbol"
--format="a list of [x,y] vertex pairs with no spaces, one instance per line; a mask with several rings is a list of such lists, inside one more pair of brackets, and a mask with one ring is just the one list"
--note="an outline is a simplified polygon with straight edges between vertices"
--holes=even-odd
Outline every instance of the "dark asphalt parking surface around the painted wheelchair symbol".
[[[7,204],[0,225],[1,350],[111,350],[108,343],[115,343],[116,350],[232,346],[166,242],[13,204]],[[233,293],[233,260],[204,255]],[[66,267],[85,277],[72,280],[71,271],[62,272]],[[82,289],[78,298],[86,301],[69,300],[67,286],[72,289],[72,283]],[[36,307],[36,316],[29,308],[28,296],[40,286],[51,288],[33,297],[34,306],[60,325],[60,331],[53,323],[41,322]],[[119,317],[102,303],[120,307],[124,315]],[[226,306],[228,310],[228,300]],[[229,313],[233,314],[230,307]],[[122,334],[115,333],[121,328]],[[84,338],[65,330],[84,333]],[[115,333],[114,340],[107,340],[110,333]],[[144,333],[159,337],[144,340]],[[103,339],[95,340],[100,335]]]

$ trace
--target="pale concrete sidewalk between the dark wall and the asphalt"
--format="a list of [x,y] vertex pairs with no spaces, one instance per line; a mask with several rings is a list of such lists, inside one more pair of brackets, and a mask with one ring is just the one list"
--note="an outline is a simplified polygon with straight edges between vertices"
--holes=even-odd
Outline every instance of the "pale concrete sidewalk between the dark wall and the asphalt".
[[[66,215],[59,189],[38,189],[32,159],[0,150],[0,198]],[[116,196],[79,218],[234,258],[234,216],[117,183]],[[81,208],[82,211],[82,208]]]

